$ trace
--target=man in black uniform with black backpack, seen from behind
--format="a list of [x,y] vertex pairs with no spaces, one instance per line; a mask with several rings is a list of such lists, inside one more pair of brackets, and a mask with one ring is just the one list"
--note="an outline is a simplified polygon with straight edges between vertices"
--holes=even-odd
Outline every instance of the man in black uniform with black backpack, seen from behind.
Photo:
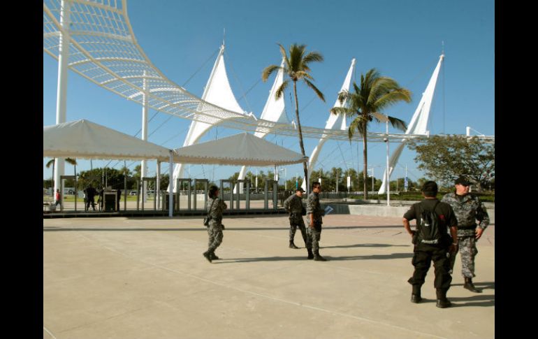
[[[450,287],[452,277],[449,273],[450,259],[446,257],[447,252],[456,252],[458,247],[458,220],[454,211],[448,203],[440,202],[437,196],[437,184],[434,181],[427,181],[422,187],[424,200],[420,203],[414,203],[403,216],[402,222],[405,230],[412,236],[414,246],[414,255],[412,264],[414,266],[413,276],[407,280],[412,284],[411,302],[419,303],[421,298],[421,286],[424,284],[426,273],[430,269],[431,261],[435,268],[434,286],[437,294],[437,307],[447,308],[451,305],[446,298],[446,291]],[[437,224],[440,238],[437,240],[423,239],[425,232],[421,232],[421,215],[426,211],[435,212],[437,215]],[[432,215],[432,214],[430,214]],[[416,231],[411,230],[409,221],[416,219]],[[447,228],[450,227],[450,236]]]

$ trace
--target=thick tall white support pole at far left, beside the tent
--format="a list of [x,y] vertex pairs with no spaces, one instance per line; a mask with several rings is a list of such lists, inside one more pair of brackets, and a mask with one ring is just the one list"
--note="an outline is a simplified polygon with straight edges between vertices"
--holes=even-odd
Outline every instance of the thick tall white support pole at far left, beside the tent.
[[[69,2],[61,1],[60,24],[66,34],[59,31],[58,87],[56,94],[56,124],[66,122],[67,65],[69,59]],[[60,188],[60,175],[64,175],[64,158],[54,160],[54,192]],[[64,192],[61,192],[63,195]]]

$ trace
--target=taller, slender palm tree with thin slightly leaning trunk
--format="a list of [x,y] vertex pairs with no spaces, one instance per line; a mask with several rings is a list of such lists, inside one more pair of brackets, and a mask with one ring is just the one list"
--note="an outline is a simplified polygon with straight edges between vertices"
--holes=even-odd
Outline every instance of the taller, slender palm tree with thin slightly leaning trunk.
[[[303,82],[305,82],[305,84],[310,87],[317,94],[317,96],[319,96],[319,99],[325,102],[323,93],[321,93],[321,91],[317,89],[316,86],[314,86],[314,84],[312,83],[314,78],[312,78],[309,73],[310,63],[322,62],[323,56],[319,54],[319,52],[306,52],[306,45],[297,45],[296,43],[294,43],[289,47],[288,57],[288,55],[286,54],[286,50],[284,50],[284,47],[281,44],[278,45],[280,48],[280,53],[282,54],[282,58],[284,59],[284,66],[267,66],[261,73],[261,80],[265,82],[272,73],[275,73],[275,71],[279,71],[280,69],[282,69],[282,71],[286,75],[286,80],[284,80],[284,82],[282,82],[282,85],[280,85],[280,87],[277,89],[275,99],[280,99],[280,97],[284,93],[284,90],[289,85],[289,80],[293,81],[293,94],[295,96],[295,117],[297,122],[297,129],[299,131],[300,151],[301,154],[303,154],[303,157],[306,157],[305,145],[303,144],[303,131],[301,130],[299,119],[297,81],[303,80]],[[308,168],[306,162],[303,162],[303,170],[305,171],[305,180],[307,180],[306,183],[308,185]]]

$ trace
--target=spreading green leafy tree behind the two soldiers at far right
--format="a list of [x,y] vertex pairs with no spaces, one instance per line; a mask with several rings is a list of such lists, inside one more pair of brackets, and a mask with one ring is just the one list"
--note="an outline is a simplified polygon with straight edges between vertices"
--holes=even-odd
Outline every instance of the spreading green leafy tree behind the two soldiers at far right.
[[495,178],[495,143],[476,136],[432,136],[412,140],[409,148],[416,151],[418,168],[441,184],[452,185],[465,175],[481,192]]

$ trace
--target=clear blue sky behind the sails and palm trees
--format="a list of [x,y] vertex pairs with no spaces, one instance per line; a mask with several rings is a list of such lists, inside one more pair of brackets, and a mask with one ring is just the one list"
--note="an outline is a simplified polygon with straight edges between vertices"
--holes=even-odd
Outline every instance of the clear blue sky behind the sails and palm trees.
[[[482,134],[495,134],[493,0],[133,0],[127,3],[127,13],[136,39],[152,63],[170,80],[198,96],[203,93],[226,29],[224,57],[231,87],[240,106],[258,117],[274,80],[261,82],[261,71],[280,61],[276,43],[286,48],[291,43],[302,43],[308,50],[321,52],[325,60],[312,65],[312,75],[326,102],[315,98],[305,86],[298,88],[301,122],[321,128],[353,58],[356,58],[356,78],[370,68],[377,68],[381,75],[394,78],[412,91],[411,103],[399,103],[384,112],[409,122],[439,60],[444,41],[446,57],[430,113],[430,133],[465,134],[465,127],[470,126]],[[43,125],[55,123],[56,90],[57,62],[43,53]],[[68,121],[85,118],[131,135],[141,127],[140,106],[71,71],[67,95]],[[150,117],[155,113],[150,110]],[[289,94],[286,94],[286,113],[293,120]],[[157,113],[150,122],[149,140],[165,147],[180,147],[190,121],[177,117],[168,120],[169,117]],[[372,124],[371,129],[384,131],[384,124]],[[214,129],[201,141],[238,132]],[[298,138],[272,134],[266,140],[300,152]],[[317,140],[305,139],[307,155],[316,145]],[[394,148],[392,145],[391,150]],[[406,149],[391,178],[404,176],[406,164],[409,178],[416,180],[424,176],[416,169],[414,156],[414,152]],[[43,159],[43,178],[52,175],[52,169],[45,168],[48,160]],[[385,145],[369,143],[368,165],[375,168],[377,178],[382,175],[385,161]],[[105,166],[108,162],[93,161],[93,166]],[[79,160],[79,164],[78,171],[89,169],[89,161]],[[108,166],[122,165],[123,161],[112,161]],[[127,165],[132,169],[136,163],[128,161]],[[326,143],[316,169],[330,170],[333,166],[362,168],[362,145]],[[269,168],[251,168],[251,171],[256,169],[266,172]],[[72,171],[73,167],[66,165],[66,173]],[[163,165],[163,171],[168,171],[168,165]],[[228,178],[239,168],[193,165],[189,171],[192,178],[217,180]],[[152,161],[151,172],[154,175]],[[296,173],[302,173],[302,166],[286,166],[286,177]]]

